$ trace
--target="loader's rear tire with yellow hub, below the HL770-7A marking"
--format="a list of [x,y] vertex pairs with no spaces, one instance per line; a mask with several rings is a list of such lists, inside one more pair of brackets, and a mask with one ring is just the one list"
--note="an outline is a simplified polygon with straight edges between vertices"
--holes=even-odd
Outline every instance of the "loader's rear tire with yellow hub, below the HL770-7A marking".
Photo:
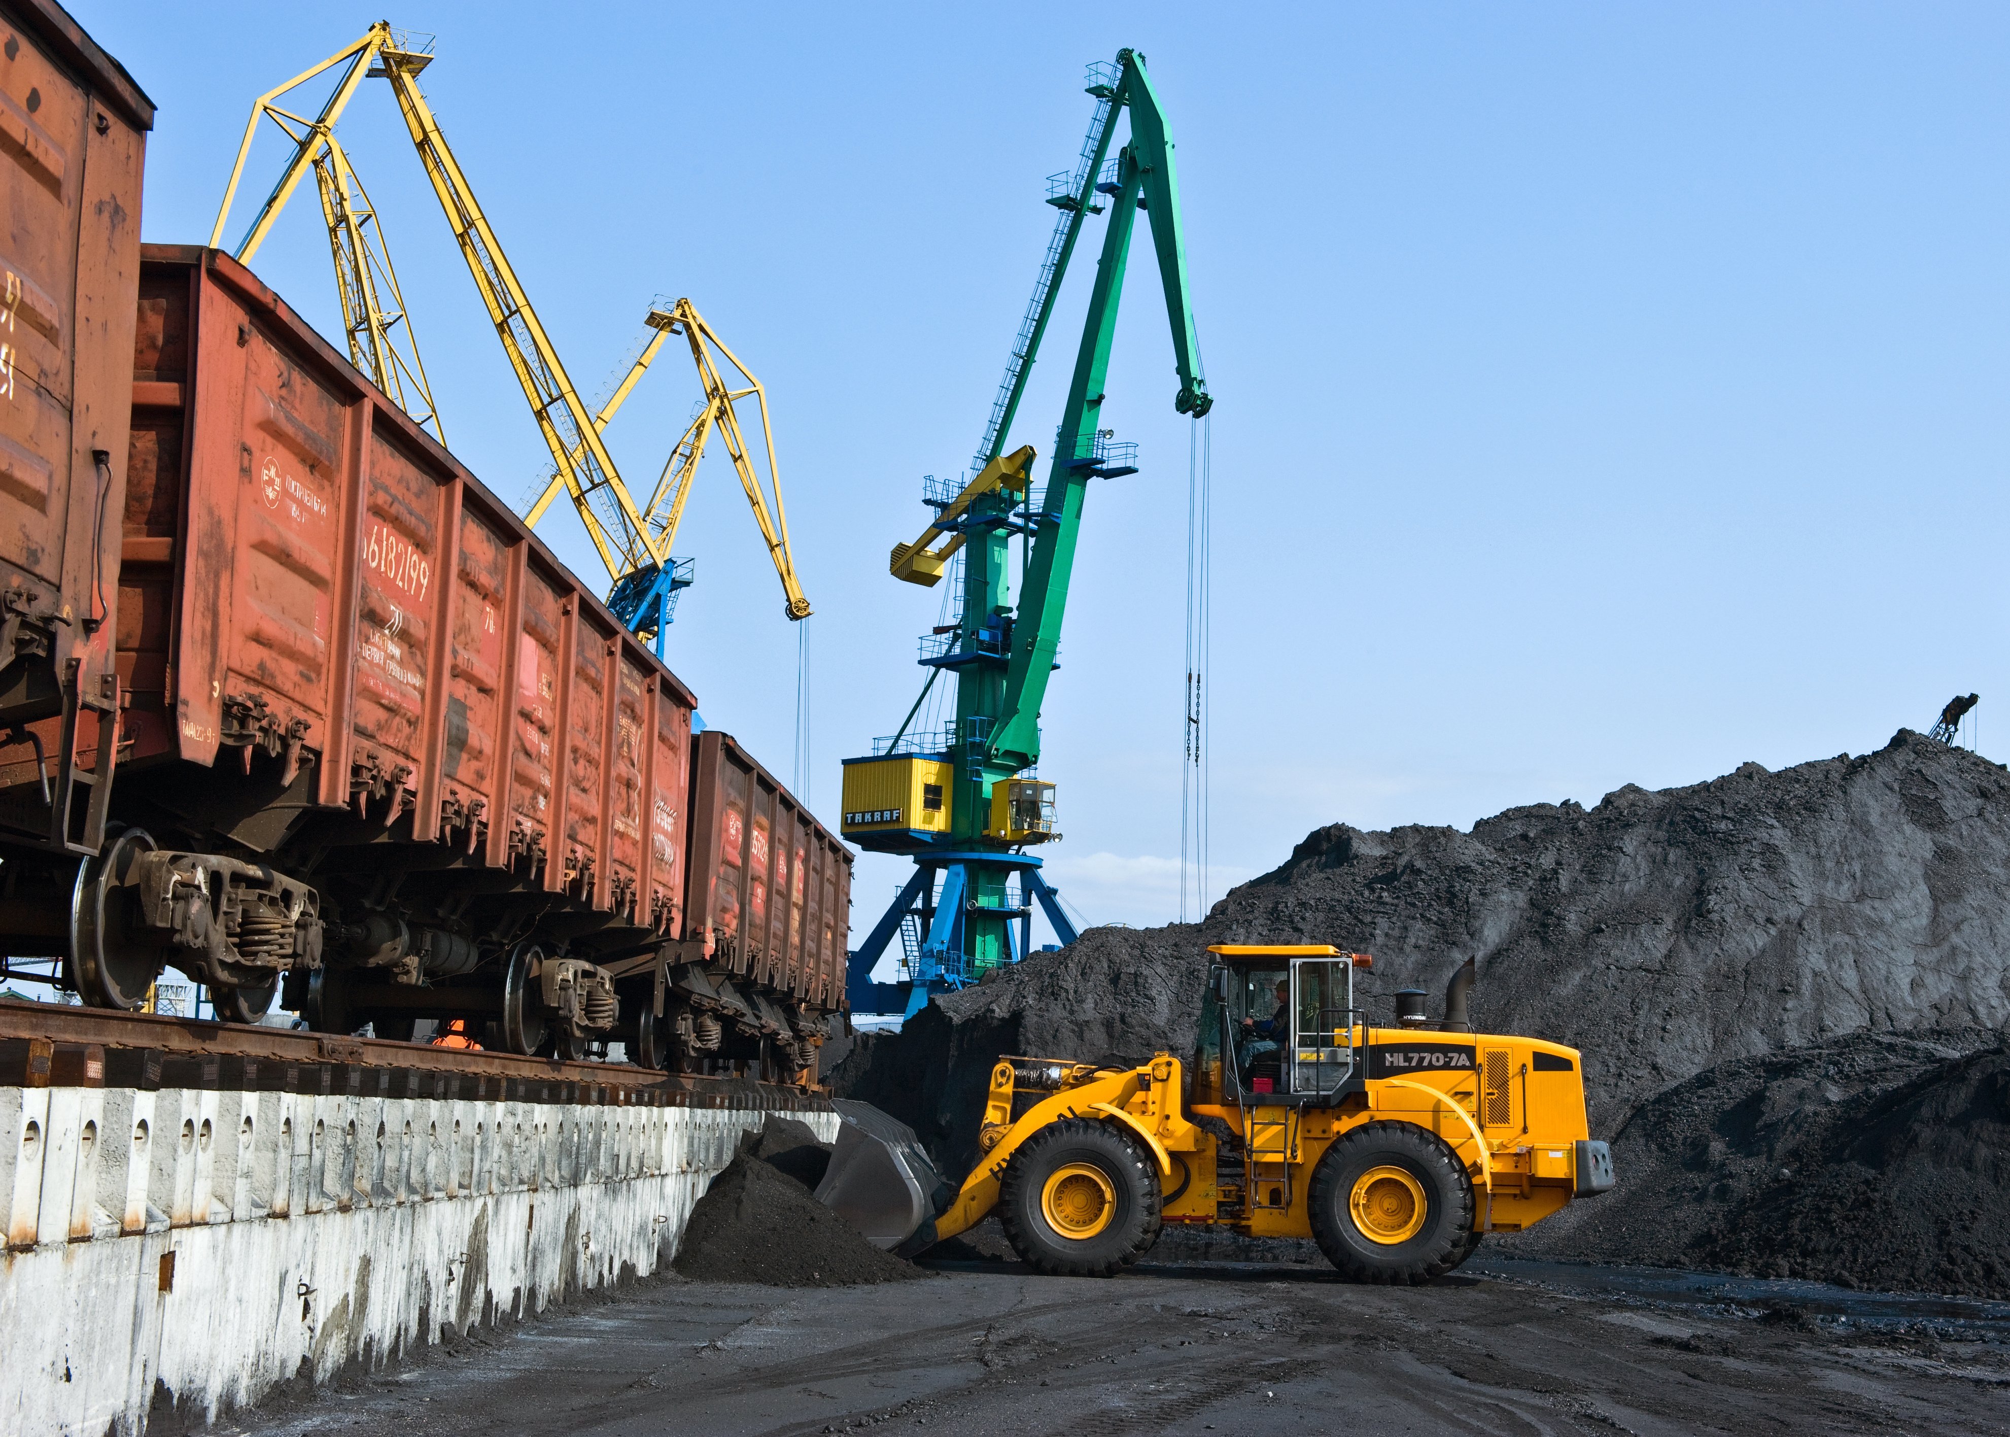
[[1425,1282],[1471,1254],[1465,1164],[1413,1123],[1341,1138],[1313,1170],[1309,1200],[1319,1250],[1353,1282]]

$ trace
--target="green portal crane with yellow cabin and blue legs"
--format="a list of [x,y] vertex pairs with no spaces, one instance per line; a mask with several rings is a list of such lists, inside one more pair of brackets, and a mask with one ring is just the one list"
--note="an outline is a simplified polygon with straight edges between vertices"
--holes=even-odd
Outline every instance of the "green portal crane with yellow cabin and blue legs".
[[[844,836],[862,848],[913,854],[917,864],[900,896],[850,955],[848,987],[858,1011],[888,1011],[888,1001],[915,1011],[931,991],[975,983],[989,969],[1021,959],[1031,941],[1035,900],[1063,943],[1075,937],[1041,878],[1039,858],[1025,852],[1059,838],[1053,784],[1033,778],[1031,770],[1039,764],[1047,679],[1059,667],[1087,484],[1136,472],[1136,446],[1112,442],[1101,406],[1140,209],[1152,225],[1172,322],[1180,374],[1174,408],[1200,418],[1214,404],[1200,374],[1188,305],[1174,143],[1144,56],[1120,50],[1114,64],[1091,66],[1087,92],[1095,96],[1095,117],[1073,173],[1049,181],[1047,203],[1061,213],[985,424],[975,476],[961,486],[929,480],[923,500],[937,510],[935,521],[919,541],[892,551],[892,575],[921,585],[939,583],[961,553],[963,595],[957,623],[921,641],[919,661],[931,673],[900,732],[874,742],[870,756],[844,762]],[[1108,161],[1124,111],[1130,111],[1130,143]],[[1007,454],[1005,442],[1075,241],[1087,217],[1105,207],[1110,219],[1095,285],[1041,492],[1031,482],[1033,448]],[[1017,609],[1011,601],[1015,537],[1023,545]],[[955,671],[955,720],[941,732],[917,732],[915,715],[945,669]],[[904,945],[904,981],[874,985],[872,967],[894,935]],[[882,991],[888,987],[896,991]]]

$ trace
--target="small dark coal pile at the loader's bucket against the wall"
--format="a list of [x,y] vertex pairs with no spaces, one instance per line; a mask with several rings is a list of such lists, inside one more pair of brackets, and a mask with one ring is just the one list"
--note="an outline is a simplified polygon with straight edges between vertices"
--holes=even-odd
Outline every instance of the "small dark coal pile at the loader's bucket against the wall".
[[832,1288],[902,1282],[923,1272],[880,1252],[810,1196],[802,1180],[830,1162],[830,1150],[804,1123],[768,1117],[740,1142],[691,1220],[671,1264],[697,1282],[758,1282],[784,1288]]

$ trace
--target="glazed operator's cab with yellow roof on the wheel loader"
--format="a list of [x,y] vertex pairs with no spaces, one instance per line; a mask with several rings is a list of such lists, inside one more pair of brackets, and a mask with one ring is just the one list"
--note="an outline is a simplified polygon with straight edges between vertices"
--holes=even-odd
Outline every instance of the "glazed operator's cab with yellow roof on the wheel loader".
[[[1365,1015],[1355,1009],[1355,969],[1365,953],[1329,945],[1214,945],[1194,1053],[1196,1103],[1306,1103],[1333,1099],[1355,1075]],[[1268,1023],[1284,985],[1284,1029]]]

